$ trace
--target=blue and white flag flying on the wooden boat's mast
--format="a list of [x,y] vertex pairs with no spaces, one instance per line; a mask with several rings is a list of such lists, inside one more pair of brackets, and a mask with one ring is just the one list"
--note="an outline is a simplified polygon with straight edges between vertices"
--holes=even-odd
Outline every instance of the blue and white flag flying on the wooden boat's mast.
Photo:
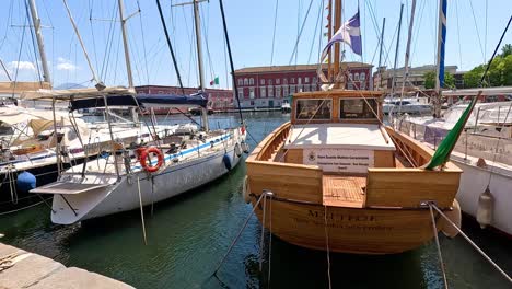
[[330,47],[337,42],[345,42],[352,48],[354,54],[362,55],[359,10],[356,15],[349,19],[349,21],[345,22],[344,25],[341,25],[341,27],[339,27],[339,30],[335,33],[335,35],[333,35],[333,38],[330,38],[330,41],[325,46],[324,51],[322,53],[321,61],[327,57]]

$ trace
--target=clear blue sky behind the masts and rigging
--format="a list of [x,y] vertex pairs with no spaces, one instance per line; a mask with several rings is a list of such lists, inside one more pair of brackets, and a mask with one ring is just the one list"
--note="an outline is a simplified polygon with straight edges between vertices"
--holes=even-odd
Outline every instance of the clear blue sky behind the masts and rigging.
[[[109,21],[118,19],[117,0],[68,0],[68,2],[96,73],[107,85],[127,85],[119,23]],[[198,81],[191,7],[171,7],[188,0],[161,0],[161,2],[183,82],[185,85],[195,86]],[[62,1],[36,0],[36,3],[45,26],[43,34],[54,84],[57,86],[72,82],[92,85],[90,82],[92,73]],[[277,3],[277,21],[274,30]],[[359,1],[364,62],[377,65],[377,35],[382,19],[386,18],[383,62],[385,60],[385,65],[393,66],[400,3],[405,7],[398,66],[404,63],[411,0]],[[175,85],[177,78],[155,1],[125,0],[125,14],[133,13],[138,5],[141,13],[128,21],[135,83],[136,85]],[[326,31],[324,28],[326,12],[322,10],[321,0],[224,0],[224,7],[235,68],[270,63],[314,63],[318,58],[318,46],[323,47],[326,43],[325,37],[319,37],[321,30]],[[200,8],[206,82],[218,76],[220,86],[226,88],[231,84],[231,80],[226,73],[229,62],[225,58],[219,2],[218,0],[202,2]],[[352,16],[357,9],[358,1],[344,1],[344,21]],[[410,60],[412,66],[434,62],[437,9],[437,0],[417,0]],[[510,0],[449,0],[445,63],[456,65],[459,70],[468,70],[482,63],[491,56],[511,13]],[[16,74],[18,68],[19,80],[37,80],[31,31],[23,28],[23,25],[27,25],[26,21],[23,0],[2,0],[0,59],[8,67],[12,78]],[[296,57],[294,55],[292,57],[303,23]],[[274,32],[276,36],[272,56]],[[508,33],[503,43],[512,43],[512,32]],[[361,57],[347,51],[347,60],[360,61]],[[5,72],[1,69],[0,80],[7,80]]]

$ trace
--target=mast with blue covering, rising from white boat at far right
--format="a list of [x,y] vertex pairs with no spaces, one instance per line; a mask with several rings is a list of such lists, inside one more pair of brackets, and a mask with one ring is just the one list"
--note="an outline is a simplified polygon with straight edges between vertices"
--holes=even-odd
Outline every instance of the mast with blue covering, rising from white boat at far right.
[[435,78],[434,117],[441,117],[441,89],[444,86],[444,45],[446,42],[446,0],[439,0],[438,59]]

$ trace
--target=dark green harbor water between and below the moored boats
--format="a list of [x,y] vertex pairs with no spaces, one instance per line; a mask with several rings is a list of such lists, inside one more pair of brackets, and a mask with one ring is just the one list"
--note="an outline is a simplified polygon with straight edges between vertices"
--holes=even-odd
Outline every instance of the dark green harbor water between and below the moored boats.
[[[259,112],[247,113],[246,118],[251,136],[259,142],[289,115]],[[159,122],[187,119],[172,116],[160,117]],[[210,127],[237,122],[236,114],[218,114],[210,117]],[[248,143],[254,148],[253,140]],[[254,216],[219,273],[212,275],[252,211],[242,196],[244,176],[245,165],[241,163],[218,181],[153,208],[146,207],[148,245],[143,243],[138,210],[81,224],[56,226],[44,205],[0,216],[0,233],[5,234],[0,241],[137,288],[328,288],[326,252],[301,248],[267,232],[260,252],[261,228]],[[480,230],[468,219],[463,220],[463,230],[512,274],[510,239]],[[440,242],[450,288],[510,288],[461,236],[440,235]],[[397,255],[331,253],[330,276],[333,288],[443,287],[434,242]]]

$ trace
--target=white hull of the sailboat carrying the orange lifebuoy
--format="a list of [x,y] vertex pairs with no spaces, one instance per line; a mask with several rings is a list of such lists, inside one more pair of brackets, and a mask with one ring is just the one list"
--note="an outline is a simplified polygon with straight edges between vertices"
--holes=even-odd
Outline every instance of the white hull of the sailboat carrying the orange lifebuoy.
[[[225,149],[222,143],[216,144],[214,149],[201,150],[200,157],[177,163],[167,162],[167,165],[153,174],[148,174],[140,169],[137,170],[138,166],[132,174],[123,174],[119,180],[117,180],[116,174],[112,173],[89,174],[84,181],[88,184],[108,185],[84,193],[55,196],[53,201],[55,212],[51,213],[51,221],[70,224],[138,209],[140,207],[139,185],[142,205],[147,206],[214,181],[229,172],[223,161],[224,154],[230,158],[231,169],[242,158],[242,154],[238,155],[235,152],[235,146],[240,146],[243,138],[235,135],[226,142]],[[221,149],[219,149],[220,146],[222,146]],[[237,150],[237,152],[241,151]],[[69,177],[71,177],[69,182],[71,184],[81,182],[79,176],[70,175]]]

